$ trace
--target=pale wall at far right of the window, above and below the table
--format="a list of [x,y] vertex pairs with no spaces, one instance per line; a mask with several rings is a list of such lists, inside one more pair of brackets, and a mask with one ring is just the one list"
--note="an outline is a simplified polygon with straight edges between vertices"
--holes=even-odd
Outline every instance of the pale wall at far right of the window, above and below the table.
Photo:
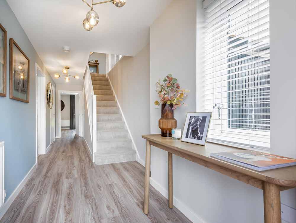
[[[295,0],[270,1],[271,153],[292,158],[296,158],[295,11]],[[281,202],[296,209],[296,189],[281,192]]]

